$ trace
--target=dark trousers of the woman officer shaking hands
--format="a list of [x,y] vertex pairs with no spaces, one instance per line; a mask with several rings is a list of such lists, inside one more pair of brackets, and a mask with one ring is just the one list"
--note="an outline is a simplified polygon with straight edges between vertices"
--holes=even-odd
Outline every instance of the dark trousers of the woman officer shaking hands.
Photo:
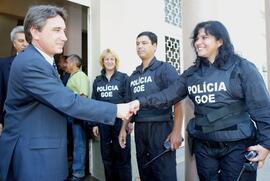
[[[236,181],[244,163],[247,140],[214,144],[195,141],[194,154],[200,181]],[[255,181],[256,171],[245,171],[241,181]]]

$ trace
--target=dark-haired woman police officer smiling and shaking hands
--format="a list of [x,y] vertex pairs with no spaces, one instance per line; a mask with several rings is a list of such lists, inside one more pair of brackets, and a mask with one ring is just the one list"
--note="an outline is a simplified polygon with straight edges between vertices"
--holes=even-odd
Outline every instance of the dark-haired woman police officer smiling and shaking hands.
[[[189,96],[195,117],[187,131],[195,140],[200,180],[236,180],[246,150],[257,151],[251,161],[259,161],[259,166],[269,153],[269,94],[255,65],[234,53],[220,22],[199,23],[192,45],[194,65],[166,90],[141,96],[131,106],[168,107]],[[256,171],[245,172],[242,179],[256,180]]]

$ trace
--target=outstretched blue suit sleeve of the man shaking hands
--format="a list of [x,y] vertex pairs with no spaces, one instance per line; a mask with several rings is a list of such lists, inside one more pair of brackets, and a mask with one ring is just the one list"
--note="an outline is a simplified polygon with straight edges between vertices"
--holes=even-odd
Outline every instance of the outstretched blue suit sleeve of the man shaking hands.
[[74,94],[63,86],[53,71],[44,64],[26,63],[21,72],[21,78],[28,94],[46,106],[71,117],[114,124],[117,113],[116,105]]

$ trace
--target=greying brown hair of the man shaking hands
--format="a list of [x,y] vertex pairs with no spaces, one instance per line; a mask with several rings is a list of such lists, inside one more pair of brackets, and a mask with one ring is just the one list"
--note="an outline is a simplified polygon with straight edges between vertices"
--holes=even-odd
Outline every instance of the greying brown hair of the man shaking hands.
[[61,16],[64,21],[67,19],[67,13],[64,8],[52,5],[37,5],[28,9],[24,19],[25,39],[28,43],[32,42],[32,35],[30,29],[36,28],[41,31],[46,20],[56,16]]

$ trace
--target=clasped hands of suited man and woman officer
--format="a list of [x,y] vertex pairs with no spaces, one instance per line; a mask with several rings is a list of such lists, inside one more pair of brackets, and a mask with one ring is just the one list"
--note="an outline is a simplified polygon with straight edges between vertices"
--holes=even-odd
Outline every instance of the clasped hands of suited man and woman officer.
[[140,102],[138,100],[124,104],[117,104],[117,117],[127,121],[133,114],[136,114],[139,109]]

